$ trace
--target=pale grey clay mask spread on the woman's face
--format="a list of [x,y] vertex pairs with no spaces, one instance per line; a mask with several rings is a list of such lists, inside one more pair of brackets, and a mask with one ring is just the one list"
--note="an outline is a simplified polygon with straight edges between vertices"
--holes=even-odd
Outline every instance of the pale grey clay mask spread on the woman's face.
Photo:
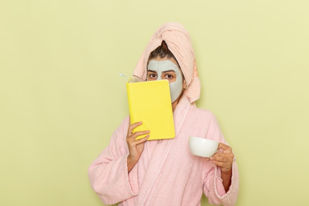
[[[163,61],[155,61],[151,60],[148,64],[148,70],[155,71],[157,73],[156,80],[162,80],[162,73],[166,71],[173,70],[176,74],[176,81],[169,83],[170,95],[172,103],[175,102],[182,92],[182,83],[183,78],[180,73],[180,69],[176,64],[174,64],[170,60],[163,60]],[[164,78],[163,78],[164,79]]]

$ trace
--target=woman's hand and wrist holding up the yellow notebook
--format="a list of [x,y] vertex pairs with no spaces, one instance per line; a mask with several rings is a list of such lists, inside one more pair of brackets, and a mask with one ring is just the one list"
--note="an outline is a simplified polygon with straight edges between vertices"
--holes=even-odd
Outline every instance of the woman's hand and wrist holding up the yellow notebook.
[[[144,150],[145,141],[149,138],[149,130],[137,131],[133,133],[133,129],[143,124],[142,122],[133,123],[129,125],[128,133],[126,136],[126,142],[129,148],[129,156],[127,157],[128,172],[133,168],[134,165],[139,161],[142,152]],[[147,136],[136,139],[140,135],[148,134]]]

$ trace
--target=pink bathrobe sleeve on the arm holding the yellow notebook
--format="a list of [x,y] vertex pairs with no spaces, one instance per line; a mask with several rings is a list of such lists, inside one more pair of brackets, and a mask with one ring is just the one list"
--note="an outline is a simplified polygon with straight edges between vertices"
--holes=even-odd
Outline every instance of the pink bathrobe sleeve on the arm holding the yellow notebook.
[[109,146],[88,169],[91,187],[106,205],[119,203],[138,193],[135,170],[128,175],[129,152],[126,143],[128,125],[129,118],[126,118],[112,135]]

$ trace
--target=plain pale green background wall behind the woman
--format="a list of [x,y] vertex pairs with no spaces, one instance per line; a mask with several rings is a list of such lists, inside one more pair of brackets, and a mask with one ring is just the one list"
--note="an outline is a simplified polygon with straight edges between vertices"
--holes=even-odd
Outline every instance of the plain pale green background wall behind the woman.
[[[102,206],[87,169],[128,115],[125,78],[182,23],[240,173],[236,206],[309,204],[309,1],[1,0],[0,205]],[[208,206],[203,197],[202,206]]]

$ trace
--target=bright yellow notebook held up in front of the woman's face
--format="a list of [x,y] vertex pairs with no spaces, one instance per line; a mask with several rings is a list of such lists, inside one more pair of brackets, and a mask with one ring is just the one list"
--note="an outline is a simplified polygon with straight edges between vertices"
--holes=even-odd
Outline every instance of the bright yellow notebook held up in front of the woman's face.
[[128,82],[126,88],[131,124],[143,122],[133,132],[150,130],[148,140],[174,138],[175,128],[168,81]]

